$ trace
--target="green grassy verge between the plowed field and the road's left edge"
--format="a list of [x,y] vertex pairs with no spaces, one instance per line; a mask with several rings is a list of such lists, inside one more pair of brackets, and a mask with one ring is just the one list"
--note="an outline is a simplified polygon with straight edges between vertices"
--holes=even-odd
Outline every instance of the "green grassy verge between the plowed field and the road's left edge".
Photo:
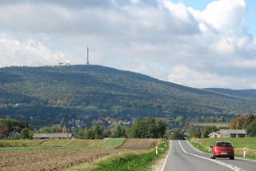
[[149,170],[150,166],[154,164],[159,158],[163,157],[168,149],[169,142],[164,141],[159,144],[158,155],[155,154],[154,149],[138,150],[134,152],[119,153],[112,157],[107,157],[98,161],[95,165],[81,165],[70,169],[72,171],[112,171],[112,170]]

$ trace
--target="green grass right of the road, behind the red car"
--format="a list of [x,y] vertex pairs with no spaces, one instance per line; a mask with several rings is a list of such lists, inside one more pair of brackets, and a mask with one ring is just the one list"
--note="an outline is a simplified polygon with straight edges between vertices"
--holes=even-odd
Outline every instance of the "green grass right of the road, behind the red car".
[[197,149],[205,153],[210,153],[210,145],[215,141],[230,141],[234,145],[234,154],[236,157],[242,157],[243,148],[246,147],[246,158],[256,159],[256,137],[246,138],[192,138],[190,143]]

